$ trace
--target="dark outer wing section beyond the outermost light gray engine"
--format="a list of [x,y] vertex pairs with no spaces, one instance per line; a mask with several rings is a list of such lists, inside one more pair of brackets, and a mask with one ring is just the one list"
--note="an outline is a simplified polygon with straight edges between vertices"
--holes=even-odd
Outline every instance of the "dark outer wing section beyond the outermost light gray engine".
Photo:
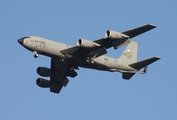
[[137,35],[140,35],[144,32],[147,32],[153,28],[155,28],[156,26],[154,25],[151,25],[151,24],[147,24],[147,25],[144,25],[144,26],[141,26],[141,27],[138,27],[138,28],[135,28],[135,29],[132,29],[132,30],[128,30],[128,31],[125,31],[125,32],[122,32],[123,34],[129,36],[130,38],[133,38]]

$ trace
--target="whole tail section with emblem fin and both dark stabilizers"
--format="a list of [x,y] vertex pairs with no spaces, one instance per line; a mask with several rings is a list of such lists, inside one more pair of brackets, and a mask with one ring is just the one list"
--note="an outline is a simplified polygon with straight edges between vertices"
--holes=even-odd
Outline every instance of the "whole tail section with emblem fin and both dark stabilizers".
[[[129,43],[127,48],[124,50],[123,54],[118,58],[120,64],[129,66],[134,69],[133,71],[128,69],[127,71],[123,70],[122,71],[123,79],[129,80],[136,73],[140,73],[140,74],[146,73],[147,66],[160,59],[158,57],[152,57],[137,62],[137,51],[138,51],[138,43],[131,41],[131,43]],[[139,71],[142,68],[144,68],[144,70]]]

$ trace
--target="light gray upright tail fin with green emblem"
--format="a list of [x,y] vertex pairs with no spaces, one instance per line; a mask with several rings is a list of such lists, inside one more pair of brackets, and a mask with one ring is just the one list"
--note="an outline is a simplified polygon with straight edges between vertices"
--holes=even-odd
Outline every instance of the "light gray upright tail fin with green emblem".
[[138,43],[131,41],[123,54],[118,58],[118,61],[123,64],[131,64],[137,61]]

